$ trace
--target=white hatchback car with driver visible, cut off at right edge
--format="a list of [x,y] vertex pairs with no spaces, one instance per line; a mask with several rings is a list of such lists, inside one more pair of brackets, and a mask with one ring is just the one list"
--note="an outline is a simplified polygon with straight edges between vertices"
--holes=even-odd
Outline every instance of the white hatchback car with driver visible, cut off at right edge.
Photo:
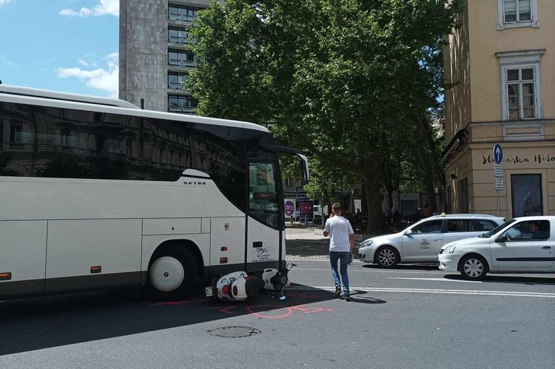
[[468,280],[486,273],[554,273],[555,216],[514,218],[479,237],[447,243],[438,255],[442,271]]

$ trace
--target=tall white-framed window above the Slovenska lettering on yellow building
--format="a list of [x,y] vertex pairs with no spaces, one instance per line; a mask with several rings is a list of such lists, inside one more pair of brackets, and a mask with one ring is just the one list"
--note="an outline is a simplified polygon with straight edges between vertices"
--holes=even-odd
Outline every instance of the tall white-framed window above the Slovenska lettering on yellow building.
[[502,120],[542,119],[540,57],[545,49],[496,53],[501,65]]

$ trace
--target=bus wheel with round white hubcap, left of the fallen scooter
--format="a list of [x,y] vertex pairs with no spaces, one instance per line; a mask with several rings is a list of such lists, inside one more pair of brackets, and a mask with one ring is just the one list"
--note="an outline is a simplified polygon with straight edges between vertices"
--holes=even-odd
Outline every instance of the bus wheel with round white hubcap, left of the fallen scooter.
[[191,252],[179,246],[153,257],[148,268],[148,291],[160,300],[175,300],[186,295],[196,280],[196,262]]

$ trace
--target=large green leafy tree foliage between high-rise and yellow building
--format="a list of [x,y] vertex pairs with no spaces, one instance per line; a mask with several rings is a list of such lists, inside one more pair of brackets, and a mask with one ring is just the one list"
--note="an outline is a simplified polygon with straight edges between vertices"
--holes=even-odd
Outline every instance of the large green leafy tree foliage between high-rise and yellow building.
[[316,157],[323,176],[355,175],[376,230],[382,188],[398,189],[413,170],[433,192],[429,110],[441,94],[443,35],[461,6],[446,3],[212,1],[192,30],[198,114],[271,123],[282,143]]

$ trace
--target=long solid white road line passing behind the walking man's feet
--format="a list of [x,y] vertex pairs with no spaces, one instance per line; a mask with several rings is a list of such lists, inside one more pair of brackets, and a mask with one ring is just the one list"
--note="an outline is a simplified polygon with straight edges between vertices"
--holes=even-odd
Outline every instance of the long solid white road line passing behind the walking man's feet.
[[[335,287],[316,286],[316,287],[290,287],[288,290],[295,291],[314,291],[315,289],[323,289],[325,291],[335,291]],[[392,289],[379,287],[350,287],[351,291],[364,292],[397,292],[397,293],[440,293],[448,295],[490,295],[490,296],[512,296],[524,298],[555,298],[555,293],[543,292],[515,292],[515,291],[479,291],[479,290],[463,290],[463,289]]]

